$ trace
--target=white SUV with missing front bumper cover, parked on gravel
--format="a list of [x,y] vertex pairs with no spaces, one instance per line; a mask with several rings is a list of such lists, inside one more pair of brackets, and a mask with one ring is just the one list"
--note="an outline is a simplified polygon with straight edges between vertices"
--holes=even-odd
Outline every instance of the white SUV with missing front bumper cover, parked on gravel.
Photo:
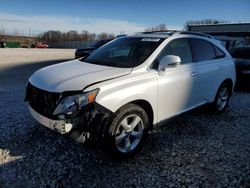
[[36,71],[26,101],[44,126],[81,141],[104,140],[116,154],[129,156],[148,129],[173,116],[208,103],[223,112],[234,85],[234,62],[213,37],[152,32]]

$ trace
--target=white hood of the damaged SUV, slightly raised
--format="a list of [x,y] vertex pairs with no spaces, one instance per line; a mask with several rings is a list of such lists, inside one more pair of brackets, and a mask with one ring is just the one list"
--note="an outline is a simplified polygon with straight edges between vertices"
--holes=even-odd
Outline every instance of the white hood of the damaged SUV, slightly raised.
[[129,74],[132,68],[116,68],[68,61],[36,71],[29,82],[37,88],[50,92],[82,90],[90,84]]

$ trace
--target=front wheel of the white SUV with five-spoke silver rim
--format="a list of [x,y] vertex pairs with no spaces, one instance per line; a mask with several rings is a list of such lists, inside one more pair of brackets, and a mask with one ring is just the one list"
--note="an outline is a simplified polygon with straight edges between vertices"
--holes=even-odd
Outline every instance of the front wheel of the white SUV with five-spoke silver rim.
[[128,104],[119,109],[109,126],[106,142],[116,157],[128,158],[142,149],[149,119],[140,106]]

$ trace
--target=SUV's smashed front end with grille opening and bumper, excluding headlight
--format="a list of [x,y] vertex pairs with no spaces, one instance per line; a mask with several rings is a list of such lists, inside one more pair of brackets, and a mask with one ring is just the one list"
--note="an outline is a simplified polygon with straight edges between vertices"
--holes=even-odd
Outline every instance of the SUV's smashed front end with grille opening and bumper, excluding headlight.
[[[91,92],[88,92],[91,93]],[[82,105],[72,114],[55,114],[58,105],[65,98],[82,91],[55,93],[39,89],[30,83],[27,84],[25,101],[28,104],[30,114],[40,124],[60,134],[88,134],[90,137],[100,138],[105,134],[106,127],[113,116],[113,112],[93,101]],[[92,97],[93,99],[93,97]],[[68,101],[67,101],[68,102]],[[75,101],[74,101],[75,102]]]

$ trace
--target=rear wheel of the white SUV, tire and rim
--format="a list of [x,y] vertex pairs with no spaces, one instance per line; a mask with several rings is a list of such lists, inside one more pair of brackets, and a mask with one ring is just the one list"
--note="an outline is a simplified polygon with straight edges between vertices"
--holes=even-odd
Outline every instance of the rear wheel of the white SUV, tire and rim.
[[230,87],[227,83],[221,84],[219,87],[215,100],[212,104],[215,113],[221,114],[225,112],[230,98]]

